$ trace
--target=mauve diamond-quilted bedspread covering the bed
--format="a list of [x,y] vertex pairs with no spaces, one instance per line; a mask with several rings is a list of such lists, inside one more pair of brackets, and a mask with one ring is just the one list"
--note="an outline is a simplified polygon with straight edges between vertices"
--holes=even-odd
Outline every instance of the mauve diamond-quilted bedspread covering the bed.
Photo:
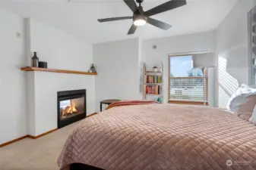
[[74,162],[107,170],[256,169],[256,127],[210,107],[114,107],[72,131],[58,165]]

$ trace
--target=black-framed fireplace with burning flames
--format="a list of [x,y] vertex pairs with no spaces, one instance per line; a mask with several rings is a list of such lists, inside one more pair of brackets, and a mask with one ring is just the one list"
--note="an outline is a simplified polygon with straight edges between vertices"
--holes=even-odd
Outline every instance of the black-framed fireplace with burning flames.
[[86,90],[58,91],[58,128],[69,125],[87,116]]

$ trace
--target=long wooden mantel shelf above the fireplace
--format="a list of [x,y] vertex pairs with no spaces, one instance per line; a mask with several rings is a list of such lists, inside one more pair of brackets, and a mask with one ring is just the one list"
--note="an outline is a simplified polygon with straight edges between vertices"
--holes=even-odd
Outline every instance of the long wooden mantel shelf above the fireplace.
[[74,70],[45,69],[45,68],[31,67],[31,66],[22,67],[21,70],[24,70],[27,72],[40,71],[40,72],[53,72],[53,73],[84,74],[84,75],[91,75],[91,76],[98,75],[97,73],[88,73],[88,72],[81,72],[81,71],[74,71]]

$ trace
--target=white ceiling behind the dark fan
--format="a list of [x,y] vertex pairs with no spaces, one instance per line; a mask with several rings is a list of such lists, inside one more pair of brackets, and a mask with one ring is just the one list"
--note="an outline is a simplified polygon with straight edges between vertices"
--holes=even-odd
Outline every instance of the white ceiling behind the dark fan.
[[[153,18],[171,24],[168,31],[146,24],[134,35],[127,32],[132,20],[99,23],[98,18],[131,16],[122,0],[1,0],[0,8],[33,17],[87,42],[98,43],[141,37],[153,39],[213,30],[239,0],[187,0],[187,5],[154,15]],[[144,0],[144,11],[167,0]]]

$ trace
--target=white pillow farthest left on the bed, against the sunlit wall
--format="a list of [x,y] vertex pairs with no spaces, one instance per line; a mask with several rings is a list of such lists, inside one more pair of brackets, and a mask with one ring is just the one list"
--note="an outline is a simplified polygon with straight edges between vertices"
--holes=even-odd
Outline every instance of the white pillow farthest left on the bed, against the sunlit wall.
[[237,112],[239,106],[243,104],[251,94],[256,94],[256,88],[250,88],[248,85],[242,84],[234,94],[229,98],[226,109],[232,112]]

